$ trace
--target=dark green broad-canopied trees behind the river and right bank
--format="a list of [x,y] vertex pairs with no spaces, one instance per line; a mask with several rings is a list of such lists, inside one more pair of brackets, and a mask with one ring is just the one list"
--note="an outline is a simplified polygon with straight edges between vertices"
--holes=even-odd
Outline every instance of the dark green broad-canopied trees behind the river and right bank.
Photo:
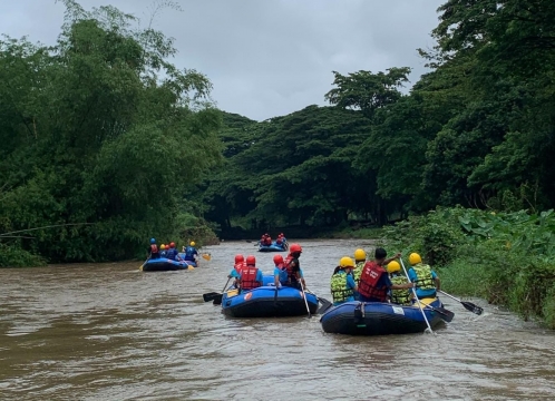
[[[224,115],[225,164],[203,188],[233,226],[381,226],[436,206],[555,204],[555,3],[449,0],[420,49],[430,71],[334,72],[331,106]],[[554,35],[552,35],[554,33]]]

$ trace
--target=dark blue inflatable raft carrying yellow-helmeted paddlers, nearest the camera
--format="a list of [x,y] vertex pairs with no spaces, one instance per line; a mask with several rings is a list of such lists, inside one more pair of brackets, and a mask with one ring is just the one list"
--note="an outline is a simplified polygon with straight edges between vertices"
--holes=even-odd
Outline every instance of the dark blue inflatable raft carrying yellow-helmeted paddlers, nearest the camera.
[[[442,307],[438,299],[426,299],[420,302]],[[440,313],[428,307],[423,311],[432,329],[442,322]],[[325,312],[320,322],[327,333],[349,335],[422,333],[428,327],[417,304],[400,306],[381,302],[345,302]]]

